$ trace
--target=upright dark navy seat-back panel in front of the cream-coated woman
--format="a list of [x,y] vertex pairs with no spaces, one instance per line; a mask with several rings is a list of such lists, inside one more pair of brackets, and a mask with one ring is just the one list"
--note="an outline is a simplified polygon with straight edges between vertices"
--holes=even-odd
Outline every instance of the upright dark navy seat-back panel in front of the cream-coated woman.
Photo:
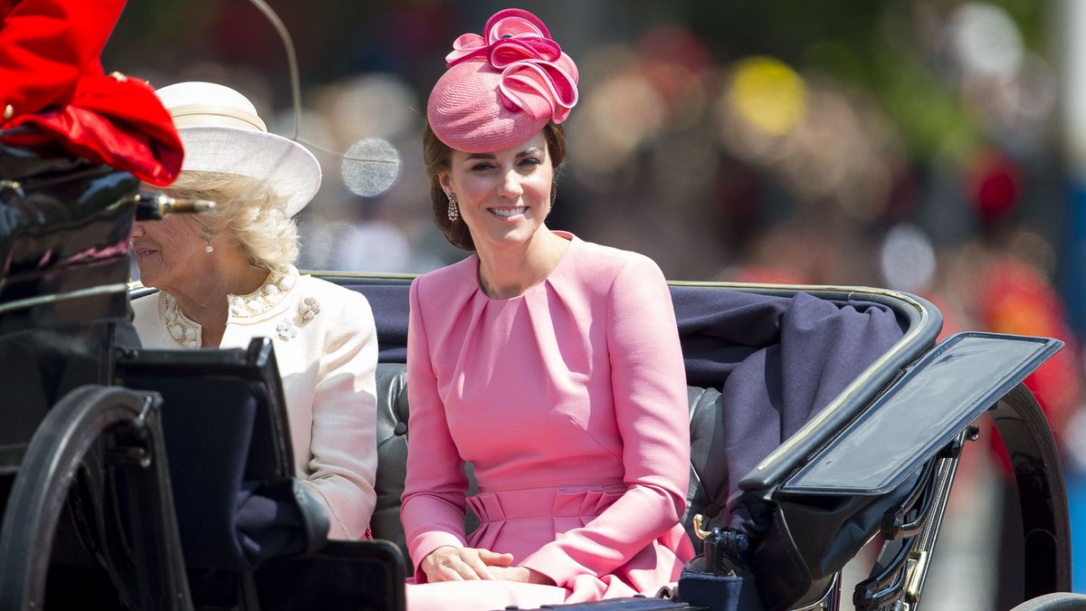
[[163,429],[186,562],[252,570],[319,549],[328,515],[294,478],[272,341],[247,350],[131,350],[125,386],[163,397]]

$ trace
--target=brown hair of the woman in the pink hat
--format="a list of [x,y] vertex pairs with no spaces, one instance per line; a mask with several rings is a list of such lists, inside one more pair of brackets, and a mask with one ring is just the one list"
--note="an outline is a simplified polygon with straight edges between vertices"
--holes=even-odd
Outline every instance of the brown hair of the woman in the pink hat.
[[[543,136],[546,138],[546,152],[551,155],[551,163],[554,165],[555,182],[551,185],[551,202],[557,195],[558,167],[566,160],[566,128],[553,122],[543,128]],[[426,175],[430,179],[430,203],[433,212],[433,224],[441,229],[453,246],[462,250],[475,250],[475,241],[471,233],[464,223],[464,216],[456,221],[449,220],[449,196],[445,189],[441,188],[441,173],[447,172],[452,167],[453,149],[449,145],[438,139],[438,136],[426,124],[422,133],[422,164],[426,167]]]

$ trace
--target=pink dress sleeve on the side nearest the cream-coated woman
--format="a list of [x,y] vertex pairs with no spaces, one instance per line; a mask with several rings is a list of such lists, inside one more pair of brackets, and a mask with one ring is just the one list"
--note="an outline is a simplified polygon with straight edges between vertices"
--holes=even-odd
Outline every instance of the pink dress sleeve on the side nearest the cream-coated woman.
[[449,433],[438,392],[429,341],[419,306],[419,277],[411,287],[407,326],[407,479],[400,509],[416,583],[425,583],[419,562],[441,546],[464,547],[467,477]]

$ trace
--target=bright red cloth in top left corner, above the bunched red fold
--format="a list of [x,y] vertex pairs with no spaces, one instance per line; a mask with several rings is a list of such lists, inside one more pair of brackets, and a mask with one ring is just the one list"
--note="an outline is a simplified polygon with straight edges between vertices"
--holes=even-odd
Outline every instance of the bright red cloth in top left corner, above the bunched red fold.
[[0,1],[0,112],[67,102],[81,75],[101,72],[99,55],[124,7],[124,0]]

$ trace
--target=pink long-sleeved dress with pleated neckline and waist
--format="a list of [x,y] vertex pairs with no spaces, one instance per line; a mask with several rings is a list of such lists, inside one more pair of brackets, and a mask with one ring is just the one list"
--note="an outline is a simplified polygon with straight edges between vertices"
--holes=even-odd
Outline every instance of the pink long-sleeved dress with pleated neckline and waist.
[[[411,437],[401,518],[408,608],[493,609],[655,591],[693,547],[686,383],[659,267],[571,240],[513,299],[480,288],[477,257],[411,290]],[[465,499],[464,462],[479,494]],[[481,520],[465,536],[465,504]],[[440,546],[510,552],[557,586],[425,584]]]

